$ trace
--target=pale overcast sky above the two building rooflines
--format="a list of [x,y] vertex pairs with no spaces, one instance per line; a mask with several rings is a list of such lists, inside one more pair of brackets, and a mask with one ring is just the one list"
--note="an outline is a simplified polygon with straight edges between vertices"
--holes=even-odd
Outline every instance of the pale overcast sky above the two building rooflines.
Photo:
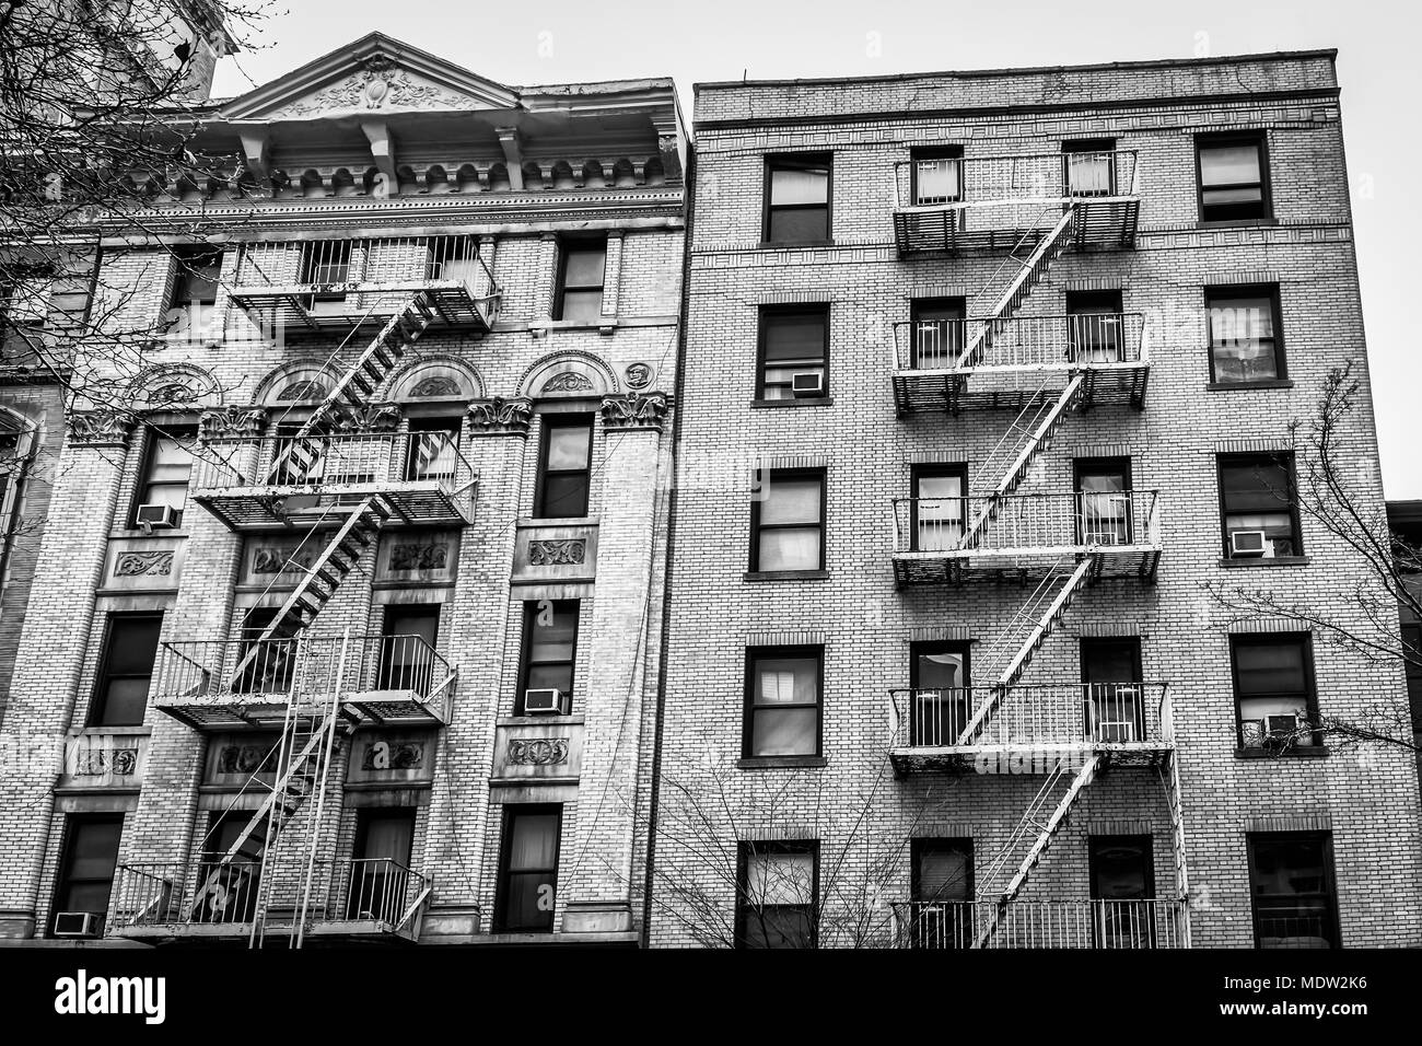
[[[540,0],[392,4],[301,0],[247,33],[213,93],[242,94],[373,30],[506,84],[674,77],[711,80],[877,75],[1010,65],[1189,58],[1338,48],[1364,320],[1389,498],[1422,498],[1422,354],[1411,340],[1422,206],[1416,28],[1402,3],[1355,0],[879,0],[707,4]],[[1412,181],[1409,181],[1412,179]],[[1285,317],[1285,337],[1287,337]]]

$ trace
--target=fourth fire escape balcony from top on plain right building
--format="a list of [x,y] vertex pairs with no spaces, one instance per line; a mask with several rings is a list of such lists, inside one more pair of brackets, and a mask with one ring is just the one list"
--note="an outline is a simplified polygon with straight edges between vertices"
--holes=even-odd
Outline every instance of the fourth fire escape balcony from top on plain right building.
[[1048,683],[889,692],[896,773],[1048,773],[1102,756],[1155,766],[1175,747],[1163,683]]

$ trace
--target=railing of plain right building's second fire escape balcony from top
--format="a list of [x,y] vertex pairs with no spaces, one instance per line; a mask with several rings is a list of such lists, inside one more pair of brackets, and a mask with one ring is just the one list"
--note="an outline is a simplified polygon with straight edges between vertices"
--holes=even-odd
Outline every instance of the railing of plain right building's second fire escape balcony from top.
[[[990,337],[981,337],[991,327]],[[970,344],[978,352],[968,363]],[[1143,364],[1145,313],[1032,316],[1007,320],[914,320],[894,324],[894,370],[1075,370]]]

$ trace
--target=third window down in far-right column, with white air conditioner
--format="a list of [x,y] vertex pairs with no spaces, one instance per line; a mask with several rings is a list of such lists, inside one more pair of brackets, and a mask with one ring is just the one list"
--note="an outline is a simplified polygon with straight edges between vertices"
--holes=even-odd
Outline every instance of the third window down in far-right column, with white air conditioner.
[[1221,454],[1220,517],[1230,559],[1303,555],[1293,454]]

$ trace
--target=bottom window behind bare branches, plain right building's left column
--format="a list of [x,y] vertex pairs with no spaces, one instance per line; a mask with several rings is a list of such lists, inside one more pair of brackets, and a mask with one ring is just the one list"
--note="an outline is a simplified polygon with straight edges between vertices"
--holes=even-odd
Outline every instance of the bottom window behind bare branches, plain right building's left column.
[[738,948],[813,948],[819,844],[742,842]]

